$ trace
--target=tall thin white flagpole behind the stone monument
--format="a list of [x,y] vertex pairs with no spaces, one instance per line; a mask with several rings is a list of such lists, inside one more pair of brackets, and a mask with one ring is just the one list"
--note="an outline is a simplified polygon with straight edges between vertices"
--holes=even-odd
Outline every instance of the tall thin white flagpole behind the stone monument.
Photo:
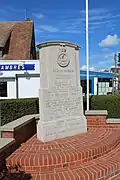
[[88,35],[88,0],[86,0],[86,66],[87,66],[87,110],[89,110],[89,35]]

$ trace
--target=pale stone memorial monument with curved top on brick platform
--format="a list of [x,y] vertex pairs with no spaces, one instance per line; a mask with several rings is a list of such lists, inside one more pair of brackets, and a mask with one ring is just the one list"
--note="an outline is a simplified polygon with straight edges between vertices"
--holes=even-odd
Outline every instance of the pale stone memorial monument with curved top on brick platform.
[[80,86],[79,46],[45,42],[40,48],[40,120],[37,138],[47,142],[87,132]]

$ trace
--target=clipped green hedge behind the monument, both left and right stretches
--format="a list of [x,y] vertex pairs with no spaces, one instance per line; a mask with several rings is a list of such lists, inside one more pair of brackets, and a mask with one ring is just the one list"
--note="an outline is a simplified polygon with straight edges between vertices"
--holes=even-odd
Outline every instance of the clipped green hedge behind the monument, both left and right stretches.
[[[86,98],[83,98],[84,111],[86,110]],[[21,116],[39,113],[38,98],[1,100],[2,125],[11,122]],[[120,95],[100,95],[90,97],[90,109],[107,110],[109,117],[120,118]]]

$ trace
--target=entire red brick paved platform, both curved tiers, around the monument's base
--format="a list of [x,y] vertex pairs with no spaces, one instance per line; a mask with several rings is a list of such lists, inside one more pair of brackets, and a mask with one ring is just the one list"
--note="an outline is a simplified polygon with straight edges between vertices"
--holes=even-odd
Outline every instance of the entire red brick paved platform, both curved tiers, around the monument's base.
[[34,135],[6,163],[8,168],[19,164],[32,180],[120,179],[115,176],[120,172],[119,143],[119,129],[92,128],[85,134],[47,143]]

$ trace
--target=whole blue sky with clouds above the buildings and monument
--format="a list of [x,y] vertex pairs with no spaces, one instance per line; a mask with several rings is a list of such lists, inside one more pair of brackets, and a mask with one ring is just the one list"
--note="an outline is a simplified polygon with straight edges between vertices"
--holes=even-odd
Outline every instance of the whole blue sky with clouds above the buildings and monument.
[[[85,0],[1,0],[0,21],[35,23],[36,44],[65,40],[81,46],[80,66],[86,68]],[[110,69],[114,52],[120,51],[120,2],[89,0],[89,47],[91,70]]]

